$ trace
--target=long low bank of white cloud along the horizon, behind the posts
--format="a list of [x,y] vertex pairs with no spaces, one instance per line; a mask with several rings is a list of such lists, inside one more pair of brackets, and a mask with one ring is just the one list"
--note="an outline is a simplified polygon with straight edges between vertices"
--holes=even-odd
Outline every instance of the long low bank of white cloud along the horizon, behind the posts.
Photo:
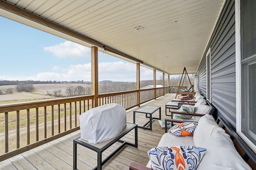
[[[153,80],[153,70],[141,69],[141,80]],[[98,64],[99,81],[136,82],[136,64],[104,62]],[[52,72],[41,72],[30,77],[0,76],[2,80],[42,80],[42,81],[91,81],[91,63],[72,64],[67,68],[54,66]]]

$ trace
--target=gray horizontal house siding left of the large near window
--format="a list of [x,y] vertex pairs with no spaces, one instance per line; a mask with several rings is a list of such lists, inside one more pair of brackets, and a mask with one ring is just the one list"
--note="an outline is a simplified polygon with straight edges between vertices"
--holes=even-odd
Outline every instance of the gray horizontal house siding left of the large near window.
[[199,90],[206,96],[206,53],[211,48],[211,102],[236,127],[235,3],[227,0],[198,67]]

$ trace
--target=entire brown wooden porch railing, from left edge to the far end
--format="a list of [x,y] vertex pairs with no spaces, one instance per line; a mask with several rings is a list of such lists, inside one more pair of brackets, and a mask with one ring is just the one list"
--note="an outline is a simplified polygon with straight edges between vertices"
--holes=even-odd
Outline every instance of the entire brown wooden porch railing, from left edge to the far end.
[[[98,104],[126,110],[168,94],[168,87],[99,94]],[[140,93],[140,99],[138,99]],[[79,130],[79,115],[91,109],[93,95],[0,106],[0,162]],[[2,123],[1,123],[2,122]]]

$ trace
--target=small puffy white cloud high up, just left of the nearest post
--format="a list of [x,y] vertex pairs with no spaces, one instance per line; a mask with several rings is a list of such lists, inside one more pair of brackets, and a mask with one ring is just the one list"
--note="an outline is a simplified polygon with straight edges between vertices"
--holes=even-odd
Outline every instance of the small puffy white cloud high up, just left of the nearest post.
[[50,52],[59,58],[90,58],[91,49],[72,41],[65,41],[50,47],[44,47],[44,51]]

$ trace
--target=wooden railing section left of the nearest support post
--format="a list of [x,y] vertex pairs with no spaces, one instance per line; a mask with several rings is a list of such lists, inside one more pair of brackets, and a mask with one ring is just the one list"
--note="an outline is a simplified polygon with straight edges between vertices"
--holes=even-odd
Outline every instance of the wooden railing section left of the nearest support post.
[[[61,98],[0,106],[0,162],[79,129],[79,115],[92,108],[94,96]],[[4,131],[3,131],[4,129]]]

